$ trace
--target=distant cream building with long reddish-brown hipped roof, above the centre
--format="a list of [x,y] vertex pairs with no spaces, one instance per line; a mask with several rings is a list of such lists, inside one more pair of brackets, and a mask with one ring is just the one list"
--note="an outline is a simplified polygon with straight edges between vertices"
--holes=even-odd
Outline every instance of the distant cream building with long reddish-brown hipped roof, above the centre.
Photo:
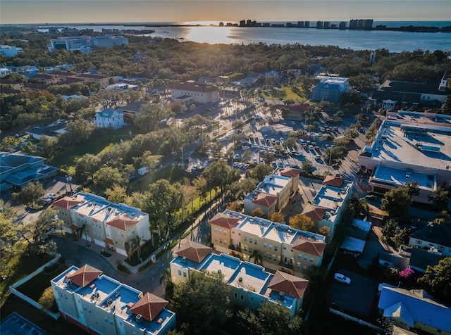
[[197,84],[193,80],[176,84],[169,88],[173,101],[185,106],[192,103],[216,103],[219,101],[218,88],[210,84]]

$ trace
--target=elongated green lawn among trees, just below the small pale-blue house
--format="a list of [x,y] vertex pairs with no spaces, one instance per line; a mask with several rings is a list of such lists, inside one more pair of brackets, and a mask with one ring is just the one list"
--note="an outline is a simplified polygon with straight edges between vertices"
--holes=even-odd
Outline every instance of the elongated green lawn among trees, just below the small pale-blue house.
[[85,155],[85,153],[97,153],[103,151],[109,146],[113,146],[116,143],[120,143],[127,139],[132,139],[137,134],[137,128],[134,125],[123,127],[117,130],[102,130],[99,134],[89,139],[89,143],[78,144],[72,148],[66,148],[58,151],[54,156],[47,161],[50,165],[61,167],[63,165],[73,165],[75,158]]

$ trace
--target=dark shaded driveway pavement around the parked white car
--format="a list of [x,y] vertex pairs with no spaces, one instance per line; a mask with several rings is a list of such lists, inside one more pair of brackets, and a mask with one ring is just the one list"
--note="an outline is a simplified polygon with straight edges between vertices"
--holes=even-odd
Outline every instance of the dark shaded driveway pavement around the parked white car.
[[346,270],[338,272],[349,277],[351,284],[342,284],[334,280],[329,291],[330,303],[337,305],[340,310],[369,316],[374,298],[378,294],[379,282]]

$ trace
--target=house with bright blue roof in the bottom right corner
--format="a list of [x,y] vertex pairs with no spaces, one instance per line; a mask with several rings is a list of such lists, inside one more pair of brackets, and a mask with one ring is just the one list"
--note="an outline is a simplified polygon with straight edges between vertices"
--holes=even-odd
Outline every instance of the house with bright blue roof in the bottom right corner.
[[378,310],[395,326],[430,334],[451,334],[451,309],[433,301],[423,290],[381,286]]

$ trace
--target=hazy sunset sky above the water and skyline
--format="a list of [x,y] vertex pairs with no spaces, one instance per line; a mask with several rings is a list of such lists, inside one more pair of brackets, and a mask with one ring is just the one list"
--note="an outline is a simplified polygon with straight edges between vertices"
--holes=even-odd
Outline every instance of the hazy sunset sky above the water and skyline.
[[451,0],[0,0],[0,24],[449,21]]

